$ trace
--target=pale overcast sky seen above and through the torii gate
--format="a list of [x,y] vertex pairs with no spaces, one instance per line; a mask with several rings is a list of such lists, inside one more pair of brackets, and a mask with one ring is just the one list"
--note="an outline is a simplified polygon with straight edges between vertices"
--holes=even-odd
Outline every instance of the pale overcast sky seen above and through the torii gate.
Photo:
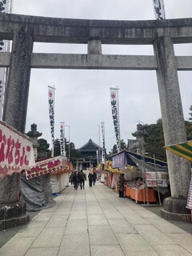
[[[55,18],[107,20],[154,19],[152,0],[12,0],[14,14]],[[191,18],[191,0],[164,0],[166,18]],[[174,46],[176,55],[192,55],[192,44]],[[34,52],[86,54],[86,45],[35,43]],[[154,54],[152,46],[102,46],[102,54]],[[192,71],[178,72],[185,120],[192,105]],[[106,150],[115,142],[110,108],[110,87],[118,86],[120,133],[124,142],[134,138],[138,122],[156,123],[161,118],[155,71],[137,70],[32,70],[26,132],[35,122],[48,142],[50,121],[48,87],[55,86],[55,138],[60,122],[70,126],[76,148],[91,138],[99,144],[98,125],[105,122]],[[66,138],[69,128],[66,127]],[[102,134],[101,134],[102,146]]]

